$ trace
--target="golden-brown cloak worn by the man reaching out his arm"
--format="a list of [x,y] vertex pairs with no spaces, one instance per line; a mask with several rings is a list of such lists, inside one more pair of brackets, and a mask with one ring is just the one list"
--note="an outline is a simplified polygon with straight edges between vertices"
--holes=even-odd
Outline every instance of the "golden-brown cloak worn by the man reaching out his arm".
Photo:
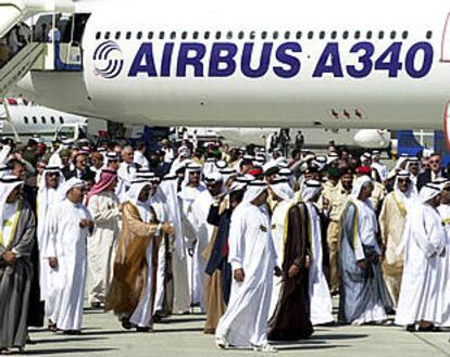
[[[148,271],[146,251],[148,244],[157,239],[158,225],[142,222],[139,211],[130,202],[124,204],[122,215],[123,224],[114,260],[114,277],[104,309],[113,310],[116,315],[130,315],[139,304],[146,288]],[[154,242],[153,267],[158,265],[158,243]],[[157,281],[157,268],[152,270],[153,281]],[[153,284],[153,297],[155,286],[157,284]]]

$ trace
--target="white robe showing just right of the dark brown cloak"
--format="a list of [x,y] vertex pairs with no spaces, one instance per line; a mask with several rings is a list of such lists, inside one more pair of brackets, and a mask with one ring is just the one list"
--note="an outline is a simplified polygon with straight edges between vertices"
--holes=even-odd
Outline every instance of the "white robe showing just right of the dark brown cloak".
[[333,301],[323,270],[321,217],[311,202],[307,202],[311,219],[312,264],[310,268],[309,293],[311,323],[322,324],[333,321]]

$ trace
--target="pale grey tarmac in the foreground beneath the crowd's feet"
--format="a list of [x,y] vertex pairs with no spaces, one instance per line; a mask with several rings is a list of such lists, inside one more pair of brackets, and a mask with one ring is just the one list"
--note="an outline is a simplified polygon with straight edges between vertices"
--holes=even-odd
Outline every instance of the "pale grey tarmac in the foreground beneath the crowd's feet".
[[432,357],[450,356],[450,331],[414,332],[396,326],[317,327],[305,341],[277,344],[278,353],[249,349],[220,350],[214,336],[203,333],[204,316],[174,316],[154,326],[154,333],[123,330],[116,317],[100,310],[85,310],[83,334],[64,335],[30,330],[36,343],[25,354],[33,356],[346,356]]

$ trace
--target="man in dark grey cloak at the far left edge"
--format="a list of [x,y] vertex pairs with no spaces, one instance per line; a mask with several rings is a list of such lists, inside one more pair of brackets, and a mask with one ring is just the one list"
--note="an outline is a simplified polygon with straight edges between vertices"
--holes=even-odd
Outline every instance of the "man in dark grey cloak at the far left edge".
[[15,176],[0,180],[0,354],[26,343],[35,217],[22,184]]

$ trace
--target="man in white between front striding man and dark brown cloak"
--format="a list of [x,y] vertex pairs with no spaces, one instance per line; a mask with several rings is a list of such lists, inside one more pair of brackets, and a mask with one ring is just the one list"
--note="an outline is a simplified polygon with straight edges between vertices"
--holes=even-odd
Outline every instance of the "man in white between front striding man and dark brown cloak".
[[[270,192],[272,194],[272,199],[275,201],[271,221],[272,238],[274,240],[274,246],[277,256],[277,266],[282,267],[284,259],[286,215],[293,204],[295,194],[288,181],[284,178],[275,179],[270,186]],[[271,318],[275,311],[275,307],[279,297],[279,290],[283,283],[282,277],[274,276],[273,280],[273,292],[271,298],[271,307],[268,310],[268,318]]]

